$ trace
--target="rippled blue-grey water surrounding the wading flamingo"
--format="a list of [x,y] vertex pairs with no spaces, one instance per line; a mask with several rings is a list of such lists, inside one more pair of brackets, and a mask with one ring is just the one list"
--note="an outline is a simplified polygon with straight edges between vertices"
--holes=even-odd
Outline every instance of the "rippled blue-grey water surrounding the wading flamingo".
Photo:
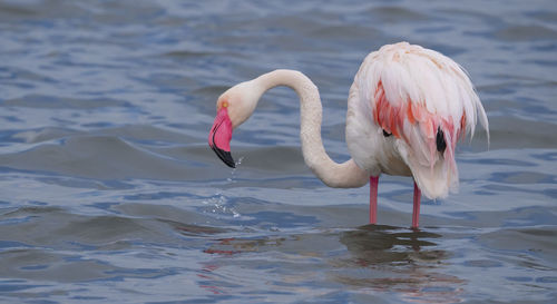
[[[229,86],[275,68],[321,88],[338,161],[363,57],[408,40],[470,73],[491,143],[460,193],[384,176],[330,189],[303,165],[299,105],[264,96],[234,171],[206,136]],[[2,302],[555,303],[555,1],[0,1]]]

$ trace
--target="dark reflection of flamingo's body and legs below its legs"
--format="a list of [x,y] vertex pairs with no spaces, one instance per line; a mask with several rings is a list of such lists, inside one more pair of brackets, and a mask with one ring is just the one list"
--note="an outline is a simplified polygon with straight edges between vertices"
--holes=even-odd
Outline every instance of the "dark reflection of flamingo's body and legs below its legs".
[[397,292],[408,302],[461,302],[465,281],[436,271],[448,258],[448,253],[434,249],[437,244],[431,241],[440,237],[426,231],[382,225],[344,232],[340,242],[351,256],[336,262],[340,269],[334,280],[372,293]]

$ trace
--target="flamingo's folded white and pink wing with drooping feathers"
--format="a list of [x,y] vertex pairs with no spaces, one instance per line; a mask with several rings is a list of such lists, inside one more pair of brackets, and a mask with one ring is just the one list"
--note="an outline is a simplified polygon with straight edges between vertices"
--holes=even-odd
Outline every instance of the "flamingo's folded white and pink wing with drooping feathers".
[[[370,53],[355,80],[373,122],[400,141],[399,151],[422,192],[436,198],[456,190],[457,141],[473,135],[478,117],[489,138],[486,112],[467,72],[437,51],[400,42]],[[438,130],[447,144],[442,153],[436,146]]]

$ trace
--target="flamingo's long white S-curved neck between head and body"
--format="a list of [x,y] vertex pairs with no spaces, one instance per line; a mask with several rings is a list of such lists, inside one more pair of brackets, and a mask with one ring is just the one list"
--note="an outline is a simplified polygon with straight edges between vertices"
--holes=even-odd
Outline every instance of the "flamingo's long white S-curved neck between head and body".
[[361,187],[369,180],[368,174],[350,159],[338,164],[329,157],[321,140],[323,109],[317,87],[300,71],[275,70],[255,79],[262,95],[274,87],[286,86],[300,97],[300,137],[302,154],[310,169],[330,187]]

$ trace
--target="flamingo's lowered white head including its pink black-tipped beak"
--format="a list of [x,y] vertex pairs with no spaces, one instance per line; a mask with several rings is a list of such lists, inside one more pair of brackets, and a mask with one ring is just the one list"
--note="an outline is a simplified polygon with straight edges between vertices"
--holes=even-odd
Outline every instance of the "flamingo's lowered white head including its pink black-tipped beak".
[[254,80],[238,84],[216,101],[216,117],[208,136],[209,147],[228,167],[236,164],[231,154],[232,131],[252,116],[262,92]]

